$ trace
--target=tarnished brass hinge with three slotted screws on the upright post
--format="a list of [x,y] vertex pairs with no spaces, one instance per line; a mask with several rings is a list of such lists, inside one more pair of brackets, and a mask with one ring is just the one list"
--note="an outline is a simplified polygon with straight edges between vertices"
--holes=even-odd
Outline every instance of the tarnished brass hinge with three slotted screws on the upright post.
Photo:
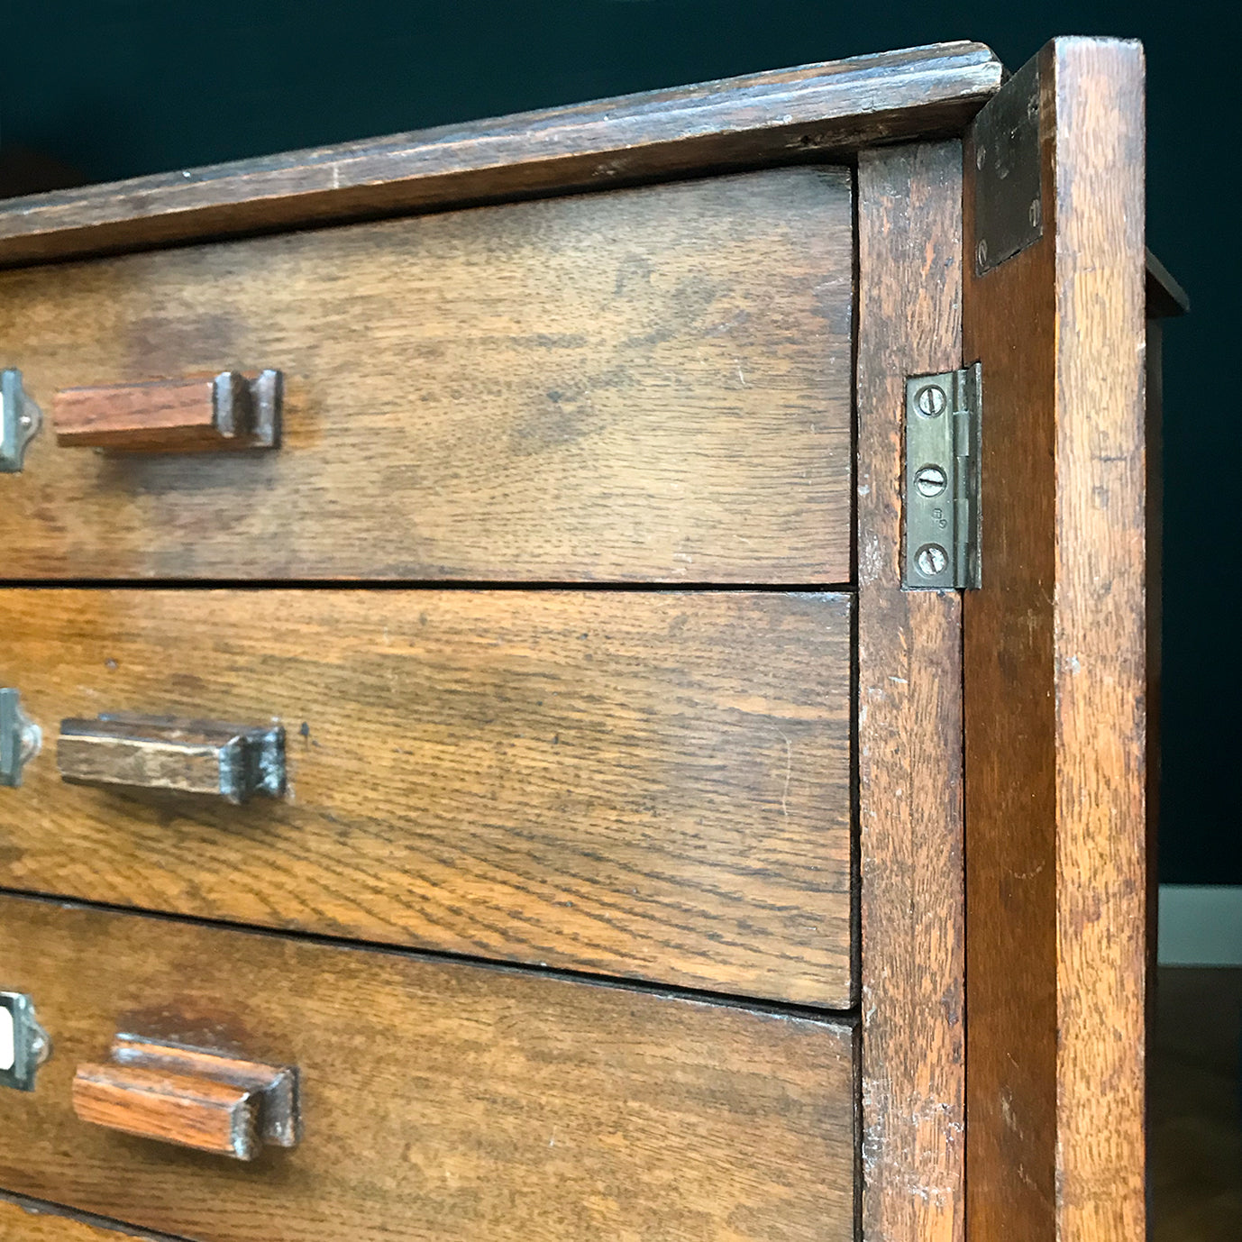
[[905,381],[902,585],[977,589],[982,366]]

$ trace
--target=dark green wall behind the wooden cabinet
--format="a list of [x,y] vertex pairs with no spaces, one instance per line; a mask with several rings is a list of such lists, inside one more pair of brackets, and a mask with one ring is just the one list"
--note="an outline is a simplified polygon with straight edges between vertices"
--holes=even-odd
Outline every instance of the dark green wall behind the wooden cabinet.
[[0,143],[113,180],[948,39],[1146,45],[1148,227],[1191,293],[1166,333],[1161,879],[1242,883],[1237,35],[1223,6],[795,0],[4,0]]

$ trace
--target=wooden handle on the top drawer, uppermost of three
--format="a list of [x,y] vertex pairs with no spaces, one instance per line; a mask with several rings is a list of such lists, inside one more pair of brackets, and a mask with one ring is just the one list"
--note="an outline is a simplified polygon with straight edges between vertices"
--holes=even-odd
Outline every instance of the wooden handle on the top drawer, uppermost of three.
[[52,427],[56,442],[70,447],[139,453],[276,448],[282,392],[279,371],[62,389],[52,397]]

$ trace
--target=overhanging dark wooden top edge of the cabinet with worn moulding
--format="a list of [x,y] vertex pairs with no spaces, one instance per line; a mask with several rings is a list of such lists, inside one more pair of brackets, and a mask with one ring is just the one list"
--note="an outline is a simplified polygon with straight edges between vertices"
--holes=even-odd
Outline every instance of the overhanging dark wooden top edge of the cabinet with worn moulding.
[[610,188],[960,133],[1001,83],[938,43],[0,205],[0,263]]

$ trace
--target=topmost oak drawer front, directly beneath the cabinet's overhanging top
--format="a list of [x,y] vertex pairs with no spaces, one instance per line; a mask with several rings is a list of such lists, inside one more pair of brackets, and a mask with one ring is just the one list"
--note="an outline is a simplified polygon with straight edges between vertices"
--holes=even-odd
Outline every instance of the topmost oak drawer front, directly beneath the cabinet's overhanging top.
[[0,573],[847,582],[852,255],[848,171],[804,168],[0,273],[45,421],[284,376],[276,451],[45,426]]

